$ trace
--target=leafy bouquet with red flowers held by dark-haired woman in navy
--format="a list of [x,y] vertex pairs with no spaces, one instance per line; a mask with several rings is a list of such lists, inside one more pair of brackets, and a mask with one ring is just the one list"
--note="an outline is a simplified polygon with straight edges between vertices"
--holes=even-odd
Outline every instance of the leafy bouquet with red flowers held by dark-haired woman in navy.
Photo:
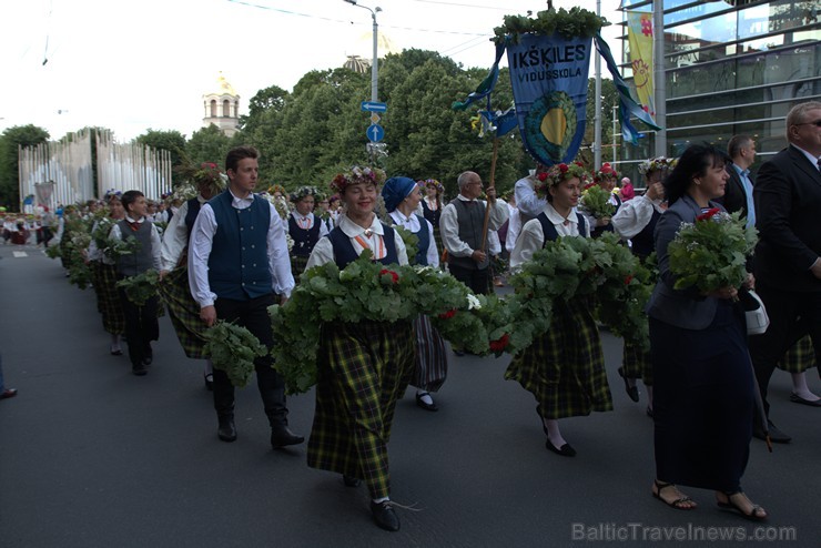
[[730,215],[713,207],[696,217],[695,223],[681,223],[667,253],[673,287],[695,287],[703,294],[722,287],[740,287],[747,278],[747,257],[758,241],[754,226],[747,226],[741,212]]

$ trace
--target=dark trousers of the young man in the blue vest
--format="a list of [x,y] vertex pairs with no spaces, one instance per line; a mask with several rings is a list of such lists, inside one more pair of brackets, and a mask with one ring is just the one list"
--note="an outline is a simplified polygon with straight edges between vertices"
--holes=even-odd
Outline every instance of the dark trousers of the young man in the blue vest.
[[[216,317],[245,327],[270,349],[274,344],[274,335],[267,308],[274,302],[275,295],[272,293],[247,301],[217,298],[214,307]],[[254,361],[256,386],[271,426],[287,425],[285,382],[272,366],[271,355]],[[234,414],[234,385],[231,384],[227,374],[217,368],[214,368],[214,408],[217,417],[229,417]]]

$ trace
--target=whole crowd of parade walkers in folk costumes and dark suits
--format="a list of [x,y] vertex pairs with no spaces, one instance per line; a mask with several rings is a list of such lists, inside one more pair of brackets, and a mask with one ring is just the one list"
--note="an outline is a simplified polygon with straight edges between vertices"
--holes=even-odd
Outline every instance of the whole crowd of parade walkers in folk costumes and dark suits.
[[[229,153],[225,173],[214,164],[191,173],[196,195],[164,211],[165,221],[152,217],[136,191],[107,195],[109,214],[98,217],[83,256],[94,265],[111,354],[122,354],[124,335],[132,372],[145,375],[164,302],[186,356],[204,363],[217,437],[230,443],[237,437],[234,386],[213,367],[203,334],[217,321],[231,321],[270,349],[267,307],[286,303],[306,270],[327,263],[344,268],[367,252],[385,265],[445,270],[474,294],[488,294],[498,285],[494,256],[509,258],[516,273],[550,242],[612,232],[657,272],[646,309],[649,349],[625,344],[618,368],[634,402],[640,399],[639,380],[643,385],[655,424],[652,496],[692,510],[697,503],[679,486],[709,488],[719,507],[760,521],[767,511],[741,487],[750,440],[754,435],[790,442],[768,418],[773,369],[792,374],[792,402],[821,406],[805,376],[821,345],[821,237],[813,216],[821,211],[821,103],[793,108],[787,138],[789,146],[761,165],[756,182],[749,173],[754,140],[737,135],[728,151],[695,144],[678,159],[649,159],[636,185],[609,164],[596,171],[577,163],[537,165],[503,200],[478,173],[465,171],[449,201],[434,179],[388,179],[368,166],[337,174],[327,191],[274,186],[257,193],[259,153],[239,146]],[[606,191],[604,209],[586,206],[592,186]],[[669,245],[682,223],[714,211],[740,211],[759,231],[747,280],[709,293],[676,288]],[[152,219],[168,223],[162,234]],[[413,256],[403,233],[415,236]],[[129,251],[107,253],[123,246]],[[152,296],[135,304],[116,283],[150,271],[164,281],[162,301]],[[748,336],[737,297],[753,288],[771,323],[763,335]],[[515,355],[505,373],[533,394],[546,448],[564,457],[577,449],[560,419],[612,409],[592,298],[557,300],[550,328]],[[335,323],[321,332],[307,463],[339,474],[348,487],[364,483],[383,529],[399,529],[387,457],[396,402],[411,385],[417,405],[436,412],[433,395],[446,382],[449,359],[424,315],[413,322]],[[256,358],[255,372],[272,447],[302,444],[305,437],[288,427],[284,380],[270,355]]]

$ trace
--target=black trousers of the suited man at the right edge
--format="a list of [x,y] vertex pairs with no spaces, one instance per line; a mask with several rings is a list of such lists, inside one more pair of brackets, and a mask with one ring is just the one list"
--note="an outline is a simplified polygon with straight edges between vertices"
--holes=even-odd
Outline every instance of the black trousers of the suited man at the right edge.
[[764,334],[750,337],[749,344],[756,379],[769,414],[767,387],[770,377],[792,345],[809,334],[815,347],[815,362],[821,364],[821,292],[789,292],[763,284],[759,284],[756,292],[767,307],[770,326]]

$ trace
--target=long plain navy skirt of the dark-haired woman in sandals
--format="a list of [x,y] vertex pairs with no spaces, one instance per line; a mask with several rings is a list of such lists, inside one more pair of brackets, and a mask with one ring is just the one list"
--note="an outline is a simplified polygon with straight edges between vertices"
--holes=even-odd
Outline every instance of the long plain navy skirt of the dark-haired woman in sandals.
[[706,329],[650,318],[656,477],[737,491],[754,408],[743,315],[720,302]]

